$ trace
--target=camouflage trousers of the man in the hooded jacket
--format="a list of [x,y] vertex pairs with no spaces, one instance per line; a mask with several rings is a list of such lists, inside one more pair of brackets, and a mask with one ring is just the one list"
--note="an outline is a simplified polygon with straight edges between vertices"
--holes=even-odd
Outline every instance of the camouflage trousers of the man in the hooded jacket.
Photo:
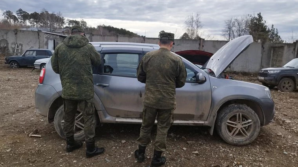
[[[64,99],[64,126],[65,137],[74,135],[75,119],[77,111],[83,115],[85,141],[91,142],[95,137],[95,117],[93,98],[88,100],[68,100]],[[79,119],[79,118],[77,118]]]

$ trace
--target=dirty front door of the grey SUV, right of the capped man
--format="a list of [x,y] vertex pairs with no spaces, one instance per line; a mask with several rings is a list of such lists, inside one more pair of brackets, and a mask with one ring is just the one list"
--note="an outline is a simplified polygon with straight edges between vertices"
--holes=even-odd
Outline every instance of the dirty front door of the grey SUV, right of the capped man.
[[[211,86],[209,76],[200,68],[183,59],[187,78],[182,88],[176,89],[176,110],[174,119],[207,120],[211,106]],[[204,83],[196,83],[195,76],[200,72],[206,78]]]

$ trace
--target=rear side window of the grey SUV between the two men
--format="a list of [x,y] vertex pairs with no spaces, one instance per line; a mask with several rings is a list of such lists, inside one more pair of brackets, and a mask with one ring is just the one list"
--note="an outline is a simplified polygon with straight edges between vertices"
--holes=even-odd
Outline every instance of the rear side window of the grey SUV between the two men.
[[137,53],[108,53],[103,58],[103,74],[136,77]]

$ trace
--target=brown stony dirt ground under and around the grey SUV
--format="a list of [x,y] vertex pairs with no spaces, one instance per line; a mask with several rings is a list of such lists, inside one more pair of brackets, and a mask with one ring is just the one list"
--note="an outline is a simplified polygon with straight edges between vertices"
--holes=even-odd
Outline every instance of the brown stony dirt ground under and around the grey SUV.
[[[148,166],[153,154],[148,146],[144,163],[133,152],[140,125],[105,124],[97,129],[103,155],[85,158],[83,148],[65,152],[65,141],[54,126],[35,110],[34,93],[40,70],[10,69],[0,62],[0,166]],[[258,83],[255,74],[231,74],[237,80]],[[276,103],[274,122],[261,127],[258,138],[246,146],[226,144],[207,128],[172,126],[167,138],[165,166],[298,166],[298,91],[271,90]],[[38,129],[41,138],[29,137]],[[191,142],[189,142],[191,141]],[[193,152],[198,152],[197,154]]]

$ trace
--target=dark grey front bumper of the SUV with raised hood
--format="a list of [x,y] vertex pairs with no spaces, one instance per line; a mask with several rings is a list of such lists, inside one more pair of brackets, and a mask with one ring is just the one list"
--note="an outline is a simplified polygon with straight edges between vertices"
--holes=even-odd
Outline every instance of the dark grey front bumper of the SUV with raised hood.
[[268,125],[270,122],[273,121],[273,118],[274,118],[275,103],[272,99],[260,99],[260,100],[262,103],[261,106],[263,108],[263,113],[264,113],[264,125]]

